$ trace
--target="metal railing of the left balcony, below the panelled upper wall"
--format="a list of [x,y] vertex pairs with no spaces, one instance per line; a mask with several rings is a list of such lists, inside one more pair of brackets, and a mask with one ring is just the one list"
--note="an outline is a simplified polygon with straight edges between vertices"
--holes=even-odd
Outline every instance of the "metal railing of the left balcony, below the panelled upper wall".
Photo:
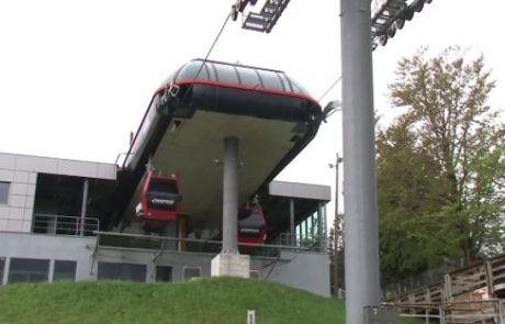
[[100,221],[94,217],[34,214],[32,222],[32,233],[38,234],[96,236],[99,230]]

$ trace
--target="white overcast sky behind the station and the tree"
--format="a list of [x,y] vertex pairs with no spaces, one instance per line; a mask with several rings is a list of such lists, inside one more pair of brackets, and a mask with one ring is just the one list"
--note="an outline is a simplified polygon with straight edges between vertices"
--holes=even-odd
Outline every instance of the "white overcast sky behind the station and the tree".
[[[113,163],[161,81],[205,56],[233,2],[0,0],[0,152]],[[396,63],[425,45],[482,53],[497,80],[490,103],[505,107],[504,12],[502,0],[426,5],[373,54],[379,114],[392,115],[385,94]],[[284,70],[319,99],[340,75],[338,13],[338,0],[292,0],[271,34],[231,21],[210,59]],[[333,186],[339,123],[336,113],[279,179]]]

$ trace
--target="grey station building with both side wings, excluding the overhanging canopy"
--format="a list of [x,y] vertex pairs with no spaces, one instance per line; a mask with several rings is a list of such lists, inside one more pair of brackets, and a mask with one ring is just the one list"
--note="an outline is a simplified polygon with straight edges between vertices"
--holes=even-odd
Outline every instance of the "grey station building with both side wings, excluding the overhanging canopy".
[[[117,172],[115,164],[0,153],[0,282],[211,276],[220,241],[104,231]],[[327,186],[270,182],[261,204],[274,231],[265,245],[239,247],[250,277],[329,297],[329,200]]]

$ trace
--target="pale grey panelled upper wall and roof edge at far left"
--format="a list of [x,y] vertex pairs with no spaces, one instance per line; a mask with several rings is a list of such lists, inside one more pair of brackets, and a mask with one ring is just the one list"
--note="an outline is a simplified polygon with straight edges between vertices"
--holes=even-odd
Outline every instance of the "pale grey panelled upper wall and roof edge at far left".
[[112,164],[0,153],[0,181],[9,183],[7,204],[0,203],[0,231],[31,232],[37,174],[115,179]]

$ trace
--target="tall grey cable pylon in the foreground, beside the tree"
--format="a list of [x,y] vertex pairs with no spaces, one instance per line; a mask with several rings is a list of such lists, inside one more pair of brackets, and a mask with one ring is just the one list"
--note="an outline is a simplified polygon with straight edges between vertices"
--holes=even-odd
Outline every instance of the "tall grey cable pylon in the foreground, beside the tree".
[[380,304],[370,4],[340,1],[347,324]]

